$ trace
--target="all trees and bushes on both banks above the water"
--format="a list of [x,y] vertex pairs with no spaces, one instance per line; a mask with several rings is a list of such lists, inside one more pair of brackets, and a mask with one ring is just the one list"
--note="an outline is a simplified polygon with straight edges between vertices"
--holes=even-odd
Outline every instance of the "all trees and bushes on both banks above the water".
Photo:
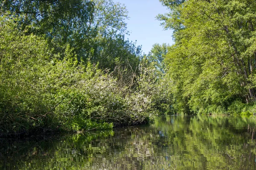
[[0,1],[0,136],[255,113],[256,2],[160,2],[175,44],[146,55],[112,0]]

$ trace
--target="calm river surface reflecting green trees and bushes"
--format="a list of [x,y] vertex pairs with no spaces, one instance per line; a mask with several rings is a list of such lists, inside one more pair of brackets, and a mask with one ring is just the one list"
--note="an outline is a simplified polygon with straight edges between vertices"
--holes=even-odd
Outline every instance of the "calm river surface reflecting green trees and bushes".
[[0,169],[253,170],[256,117],[165,116],[87,135],[2,141]]

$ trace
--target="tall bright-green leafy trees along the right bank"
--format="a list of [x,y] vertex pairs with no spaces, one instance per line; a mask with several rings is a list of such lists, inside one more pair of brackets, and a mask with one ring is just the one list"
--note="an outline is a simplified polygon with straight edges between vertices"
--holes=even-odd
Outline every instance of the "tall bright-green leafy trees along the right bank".
[[256,2],[160,0],[173,29],[166,77],[178,113],[256,113]]

